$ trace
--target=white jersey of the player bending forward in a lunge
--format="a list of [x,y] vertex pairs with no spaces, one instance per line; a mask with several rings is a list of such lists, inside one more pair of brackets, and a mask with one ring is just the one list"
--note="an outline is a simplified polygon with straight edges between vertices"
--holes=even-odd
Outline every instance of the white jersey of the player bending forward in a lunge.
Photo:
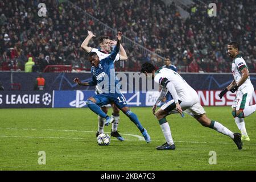
[[170,81],[177,92],[178,100],[190,101],[195,98],[198,99],[196,91],[188,85],[188,83],[179,75],[179,73],[172,71],[172,69],[162,68],[155,73],[155,82],[161,83],[163,78],[167,78]]

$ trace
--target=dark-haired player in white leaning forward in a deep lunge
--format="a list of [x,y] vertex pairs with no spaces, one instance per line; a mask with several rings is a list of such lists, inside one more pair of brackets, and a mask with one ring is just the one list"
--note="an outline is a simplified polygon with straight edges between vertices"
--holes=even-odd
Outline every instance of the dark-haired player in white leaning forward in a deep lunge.
[[[174,140],[172,139],[171,129],[166,116],[174,113],[183,115],[183,110],[185,113],[192,115],[201,125],[228,135],[236,143],[238,149],[242,149],[241,134],[233,133],[221,125],[221,123],[209,119],[205,114],[204,107],[200,104],[196,91],[178,73],[166,68],[156,71],[156,68],[151,63],[142,64],[141,73],[144,73],[147,77],[151,75],[155,82],[162,86],[160,96],[152,107],[152,111],[159,121],[166,143],[156,147],[157,150],[175,150]],[[156,105],[163,99],[167,92],[171,93],[174,100],[168,101],[155,113]]]

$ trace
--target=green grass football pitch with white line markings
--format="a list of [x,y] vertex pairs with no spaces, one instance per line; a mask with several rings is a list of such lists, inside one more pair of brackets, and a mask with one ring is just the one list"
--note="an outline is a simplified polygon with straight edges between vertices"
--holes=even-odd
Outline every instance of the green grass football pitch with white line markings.
[[[0,109],[0,170],[255,170],[255,113],[245,118],[250,142],[243,150],[229,137],[203,127],[188,114],[170,115],[175,151],[158,151],[164,137],[151,107],[132,107],[151,136],[141,133],[123,113],[118,131],[126,139],[112,138],[98,146],[97,115],[89,109]],[[209,118],[238,132],[230,107],[205,107]],[[111,114],[111,110],[109,111]],[[110,133],[111,126],[105,127]],[[39,151],[46,164],[39,165]],[[210,151],[217,164],[209,164]]]

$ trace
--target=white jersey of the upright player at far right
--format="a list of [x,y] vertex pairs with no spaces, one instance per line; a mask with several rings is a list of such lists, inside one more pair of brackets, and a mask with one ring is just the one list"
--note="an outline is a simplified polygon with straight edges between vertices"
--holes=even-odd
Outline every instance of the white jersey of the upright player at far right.
[[[242,77],[242,72],[241,70],[243,68],[247,68],[247,65],[245,63],[245,60],[242,58],[242,56],[237,55],[235,57],[235,59],[232,62],[232,73],[234,76],[234,80],[237,82],[240,81],[241,77]],[[239,87],[239,89],[243,89],[245,88],[245,86],[247,85],[251,85],[251,80],[250,80],[250,76],[247,78],[247,80]]]

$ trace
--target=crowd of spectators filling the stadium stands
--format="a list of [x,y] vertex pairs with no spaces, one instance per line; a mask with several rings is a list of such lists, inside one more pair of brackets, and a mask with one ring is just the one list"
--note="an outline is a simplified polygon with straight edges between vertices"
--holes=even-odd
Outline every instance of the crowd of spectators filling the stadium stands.
[[[35,62],[33,71],[42,72],[47,65],[56,64],[90,70],[80,49],[87,30],[97,36],[114,36],[93,20],[85,20],[82,11],[65,1],[40,2],[46,3],[46,17],[38,16],[36,0],[0,2],[0,70],[23,71],[28,57]],[[216,1],[216,17],[208,16],[208,5],[197,3],[187,9],[187,19],[181,18],[174,3],[166,6],[162,1],[71,2],[152,52],[170,56],[180,71],[230,72],[232,61],[226,55],[226,44],[237,41],[249,71],[256,72],[254,1]],[[96,38],[90,46],[98,46]],[[143,55],[138,46],[123,46],[129,60],[117,64],[117,70],[139,71],[139,65],[146,61],[157,67],[164,65],[154,54]]]

